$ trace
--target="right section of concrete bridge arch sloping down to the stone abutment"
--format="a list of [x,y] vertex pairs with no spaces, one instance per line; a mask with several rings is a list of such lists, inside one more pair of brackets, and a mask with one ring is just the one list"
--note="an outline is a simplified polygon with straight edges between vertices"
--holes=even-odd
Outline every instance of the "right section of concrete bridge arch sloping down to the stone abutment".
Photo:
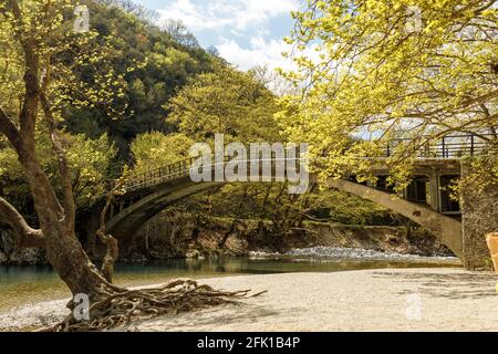
[[428,206],[401,198],[393,198],[391,194],[376,190],[372,187],[334,178],[329,178],[328,185],[331,188],[371,200],[415,221],[439,236],[442,242],[461,259],[464,254],[461,222],[434,211]]

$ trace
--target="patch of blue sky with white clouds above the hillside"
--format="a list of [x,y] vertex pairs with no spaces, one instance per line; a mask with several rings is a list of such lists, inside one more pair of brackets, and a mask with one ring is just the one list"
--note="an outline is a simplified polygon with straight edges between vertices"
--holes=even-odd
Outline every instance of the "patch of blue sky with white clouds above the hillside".
[[204,48],[216,46],[221,56],[248,70],[255,65],[289,69],[281,53],[288,48],[299,0],[134,0],[156,10],[162,20],[179,19]]

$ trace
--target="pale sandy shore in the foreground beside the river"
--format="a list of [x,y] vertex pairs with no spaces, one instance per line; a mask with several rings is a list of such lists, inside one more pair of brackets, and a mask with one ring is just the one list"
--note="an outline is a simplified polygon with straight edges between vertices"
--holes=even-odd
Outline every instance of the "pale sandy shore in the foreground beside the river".
[[[498,331],[498,278],[460,269],[369,270],[204,280],[268,290],[229,305],[134,324],[138,331]],[[0,329],[48,324],[64,302],[0,313]]]

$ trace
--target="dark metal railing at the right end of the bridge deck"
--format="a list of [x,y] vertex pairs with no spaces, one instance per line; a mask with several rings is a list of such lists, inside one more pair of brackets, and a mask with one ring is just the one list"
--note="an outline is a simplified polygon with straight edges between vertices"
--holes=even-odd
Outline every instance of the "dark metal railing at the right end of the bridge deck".
[[[491,134],[455,134],[440,139],[427,140],[416,150],[417,158],[461,158],[466,156],[483,155],[490,148],[489,142],[494,140]],[[385,156],[391,157],[403,146],[413,144],[413,138],[400,138],[391,140],[385,148]]]

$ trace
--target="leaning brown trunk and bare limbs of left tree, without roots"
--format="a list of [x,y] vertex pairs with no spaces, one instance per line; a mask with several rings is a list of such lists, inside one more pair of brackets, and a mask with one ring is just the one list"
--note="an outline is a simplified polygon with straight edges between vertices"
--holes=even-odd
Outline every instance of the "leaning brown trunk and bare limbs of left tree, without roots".
[[[0,106],[0,134],[8,138],[23,167],[41,229],[34,230],[29,227],[24,218],[1,197],[0,218],[21,235],[21,243],[23,243],[21,246],[42,246],[46,250],[50,263],[73,295],[86,294],[91,301],[96,301],[122,290],[100,274],[75,235],[75,202],[70,165],[58,135],[52,106],[46,97],[51,82],[50,55],[44,61],[41,60],[40,55],[44,51],[32,32],[37,23],[33,22],[33,29],[30,28],[29,32],[24,25],[19,25],[19,23],[28,23],[19,1],[3,2],[6,4],[2,10],[9,12],[14,21],[13,40],[19,43],[20,54],[23,56],[24,93],[17,119],[10,117]],[[49,11],[50,7],[46,6],[45,10]],[[43,62],[46,64],[44,70],[41,67]],[[40,111],[44,114],[44,121],[39,119]],[[44,122],[49,128],[54,156],[59,162],[61,200],[55,195],[54,187],[38,159],[35,132],[40,122]]]

